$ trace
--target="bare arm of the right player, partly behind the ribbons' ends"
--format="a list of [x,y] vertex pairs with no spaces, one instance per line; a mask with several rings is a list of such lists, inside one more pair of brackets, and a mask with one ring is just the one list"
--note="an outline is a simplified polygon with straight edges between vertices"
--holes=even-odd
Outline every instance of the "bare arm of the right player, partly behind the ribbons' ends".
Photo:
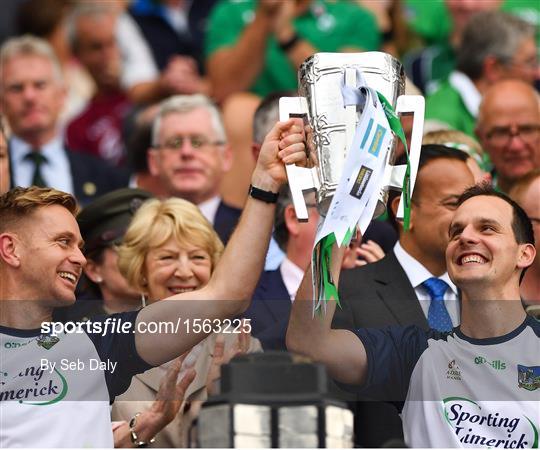
[[[344,253],[345,247],[338,248],[334,244],[331,270],[336,285]],[[337,381],[363,384],[367,371],[364,345],[351,331],[331,328],[336,309],[334,300],[327,303],[326,312],[321,317],[313,317],[311,280],[310,266],[293,302],[287,329],[287,348],[324,364],[330,376]]]

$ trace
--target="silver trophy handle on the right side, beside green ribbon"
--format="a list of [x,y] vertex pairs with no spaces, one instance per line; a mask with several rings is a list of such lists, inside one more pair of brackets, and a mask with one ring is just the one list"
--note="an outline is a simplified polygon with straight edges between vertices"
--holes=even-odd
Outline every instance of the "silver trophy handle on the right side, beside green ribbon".
[[[411,164],[410,192],[413,193],[416,175],[418,174],[418,163],[420,162],[420,149],[422,147],[422,136],[424,131],[424,111],[425,100],[421,95],[401,95],[397,99],[396,114],[413,113],[413,128],[411,133],[411,148],[409,149],[409,161]],[[394,166],[390,178],[390,186],[403,188],[403,177],[406,166]],[[398,219],[403,218],[403,192],[399,200],[399,207],[396,214]]]

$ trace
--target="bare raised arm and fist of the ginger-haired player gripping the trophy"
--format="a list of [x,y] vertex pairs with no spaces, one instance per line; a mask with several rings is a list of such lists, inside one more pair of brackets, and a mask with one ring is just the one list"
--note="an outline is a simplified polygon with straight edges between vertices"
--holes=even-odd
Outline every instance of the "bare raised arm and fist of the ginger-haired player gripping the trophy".
[[[286,180],[283,163],[305,164],[302,122],[291,119],[277,123],[262,145],[251,178],[254,187],[278,192]],[[144,308],[137,322],[178,322],[193,324],[194,319],[212,323],[214,319],[234,317],[249,306],[264,265],[270,241],[275,204],[248,197],[244,211],[208,285],[199,291],[178,294]],[[200,342],[210,330],[178,333],[139,333],[135,344],[148,363],[159,365],[181,355]]]

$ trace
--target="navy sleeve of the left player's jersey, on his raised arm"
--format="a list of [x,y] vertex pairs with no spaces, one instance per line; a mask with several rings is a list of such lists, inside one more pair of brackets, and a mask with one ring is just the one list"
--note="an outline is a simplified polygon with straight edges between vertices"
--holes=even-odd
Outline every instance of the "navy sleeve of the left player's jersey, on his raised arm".
[[[127,390],[134,375],[153,367],[139,356],[135,348],[135,321],[138,314],[139,311],[130,311],[92,319],[93,330],[102,332],[88,333],[88,337],[101,361],[107,365],[104,374],[111,403]],[[96,326],[95,322],[100,324]]]

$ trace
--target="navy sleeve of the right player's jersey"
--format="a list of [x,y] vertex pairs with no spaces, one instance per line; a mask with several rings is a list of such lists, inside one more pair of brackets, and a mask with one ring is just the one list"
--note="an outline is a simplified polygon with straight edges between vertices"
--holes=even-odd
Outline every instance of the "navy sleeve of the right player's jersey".
[[361,328],[355,334],[366,349],[367,376],[364,385],[353,390],[369,400],[405,401],[414,366],[427,348],[427,333],[417,326],[389,326]]

